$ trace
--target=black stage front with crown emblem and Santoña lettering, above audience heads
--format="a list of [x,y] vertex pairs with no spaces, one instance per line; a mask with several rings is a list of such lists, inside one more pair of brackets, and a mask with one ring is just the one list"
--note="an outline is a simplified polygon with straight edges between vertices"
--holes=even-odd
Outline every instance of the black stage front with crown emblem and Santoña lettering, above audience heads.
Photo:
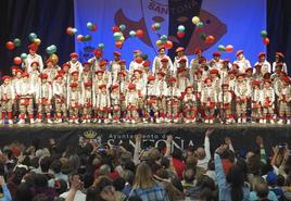
[[245,147],[255,149],[255,137],[261,135],[270,151],[271,145],[289,142],[291,145],[291,125],[270,124],[33,124],[33,125],[2,125],[0,128],[0,146],[20,141],[30,145],[38,139],[40,145],[48,145],[54,138],[58,145],[65,149],[75,147],[80,139],[87,138],[101,143],[118,145],[128,141],[134,146],[134,135],[144,135],[144,141],[155,143],[166,139],[166,135],[174,135],[175,146],[187,148],[189,145],[203,145],[204,133],[207,128],[215,129],[211,136],[212,149],[219,146],[225,137],[230,137],[235,149]]

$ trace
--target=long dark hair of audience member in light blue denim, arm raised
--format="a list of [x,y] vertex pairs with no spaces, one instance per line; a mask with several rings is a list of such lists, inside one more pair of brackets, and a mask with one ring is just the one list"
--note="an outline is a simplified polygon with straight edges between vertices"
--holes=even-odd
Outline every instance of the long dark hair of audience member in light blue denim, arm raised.
[[231,166],[228,174],[226,175],[226,180],[231,185],[231,200],[242,200],[244,176],[241,167],[238,165]]

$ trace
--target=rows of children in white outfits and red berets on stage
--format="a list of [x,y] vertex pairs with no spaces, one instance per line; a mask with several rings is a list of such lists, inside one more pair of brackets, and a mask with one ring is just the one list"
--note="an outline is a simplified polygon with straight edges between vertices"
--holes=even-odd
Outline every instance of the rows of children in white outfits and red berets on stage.
[[23,66],[2,77],[2,123],[291,123],[281,52],[273,65],[260,53],[252,67],[242,50],[230,63],[219,52],[207,61],[197,49],[189,62],[179,47],[172,62],[161,46],[152,65],[136,50],[126,67],[119,52],[109,62],[96,49],[88,62],[74,52],[60,67],[55,58],[43,65],[37,46],[28,49]]

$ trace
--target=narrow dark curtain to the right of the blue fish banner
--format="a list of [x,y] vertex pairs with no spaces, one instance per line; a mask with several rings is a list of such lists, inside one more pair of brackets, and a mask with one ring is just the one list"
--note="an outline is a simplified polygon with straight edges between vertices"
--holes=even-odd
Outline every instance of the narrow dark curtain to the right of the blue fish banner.
[[275,61],[276,51],[286,55],[288,73],[291,75],[291,1],[267,1],[267,32],[269,45],[267,47],[268,61]]

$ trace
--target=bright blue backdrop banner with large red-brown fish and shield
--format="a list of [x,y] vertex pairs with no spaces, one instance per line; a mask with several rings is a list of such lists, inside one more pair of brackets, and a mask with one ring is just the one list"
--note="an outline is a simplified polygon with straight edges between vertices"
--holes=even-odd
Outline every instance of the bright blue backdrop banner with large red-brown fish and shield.
[[[203,23],[200,29],[192,23],[195,15]],[[88,22],[97,25],[96,32],[87,28]],[[160,30],[152,30],[154,23],[161,24]],[[113,59],[113,51],[121,51],[129,64],[132,51],[139,49],[152,61],[156,54],[156,40],[162,35],[173,41],[173,49],[184,46],[188,55],[200,47],[211,58],[219,45],[231,45],[235,50],[223,53],[223,58],[235,60],[236,50],[243,49],[254,64],[257,53],[266,50],[261,38],[261,30],[266,28],[265,0],[75,0],[75,25],[78,30],[76,36],[92,37],[90,41],[75,40],[81,61],[88,60],[99,43],[104,45],[104,58],[107,60]],[[114,25],[125,25],[122,49],[115,48]],[[185,27],[182,38],[177,36],[179,25]],[[143,36],[130,37],[129,33],[138,29],[143,32]],[[214,42],[205,42],[206,36],[214,36]]]

